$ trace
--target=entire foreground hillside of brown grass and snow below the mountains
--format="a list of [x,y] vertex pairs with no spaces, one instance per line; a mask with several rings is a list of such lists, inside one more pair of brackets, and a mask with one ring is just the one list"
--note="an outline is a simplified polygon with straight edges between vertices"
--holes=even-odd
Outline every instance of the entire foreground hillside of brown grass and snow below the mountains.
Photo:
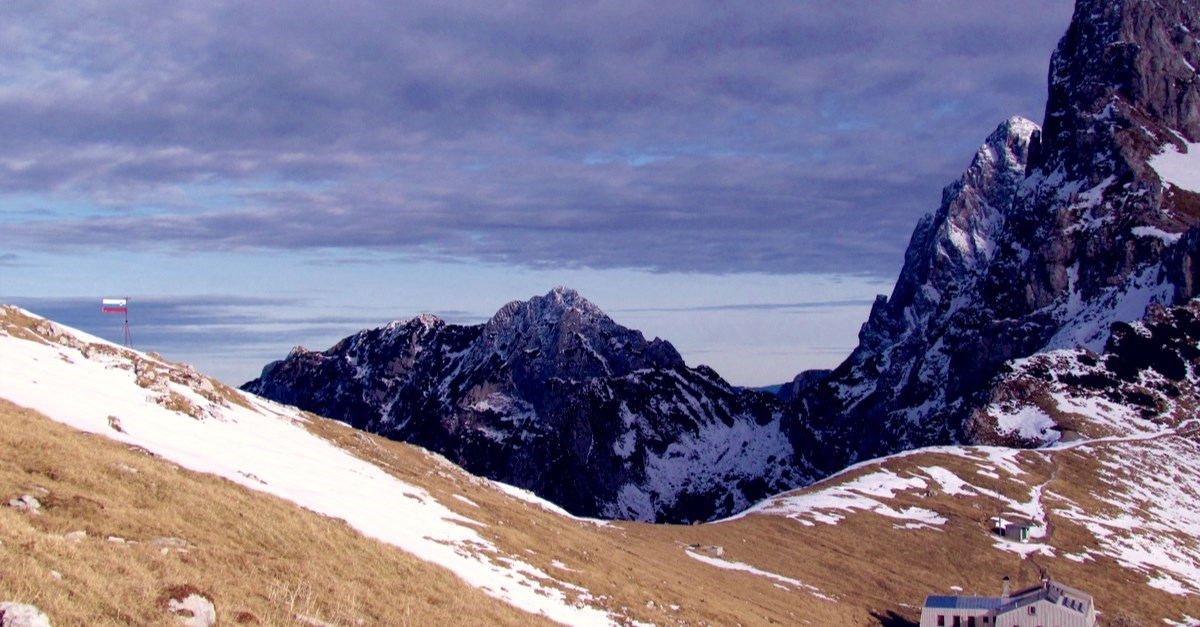
[[[1004,574],[1024,585],[1040,569],[1094,593],[1109,617],[1200,616],[1195,422],[1042,450],[912,452],[715,524],[598,522],[412,446],[2,311],[0,398],[91,434],[2,412],[5,444],[25,453],[6,464],[0,496],[49,494],[41,514],[0,508],[0,542],[19,547],[4,553],[17,563],[0,581],[61,623],[154,616],[169,586],[210,595],[229,623],[293,611],[390,623],[394,599],[412,604],[414,623],[510,621],[502,604],[470,601],[469,584],[569,623],[902,625],[930,592],[994,593]],[[168,485],[161,476],[179,497],[148,509]],[[1038,521],[1037,542],[996,539],[1001,510]],[[66,539],[79,530],[78,544]],[[220,575],[240,560],[265,574]],[[113,591],[112,580],[128,585]]]

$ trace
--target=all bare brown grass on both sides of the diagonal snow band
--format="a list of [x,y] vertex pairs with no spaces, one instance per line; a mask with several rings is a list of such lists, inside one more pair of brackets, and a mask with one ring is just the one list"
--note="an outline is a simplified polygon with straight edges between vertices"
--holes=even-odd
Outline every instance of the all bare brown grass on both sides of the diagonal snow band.
[[[1109,616],[1126,614],[1154,625],[1162,616],[1200,615],[1194,597],[1151,589],[1144,574],[1112,560],[1063,559],[1092,538],[1062,516],[1051,514],[1057,557],[1031,560],[994,549],[990,516],[1003,506],[990,497],[952,496],[935,488],[901,492],[889,501],[895,508],[938,512],[948,522],[937,530],[898,530],[895,520],[869,513],[816,526],[778,515],[696,526],[598,526],[514,500],[415,447],[330,420],[313,420],[310,428],[486,524],[482,535],[506,553],[587,587],[610,609],[637,620],[877,625],[892,615],[916,619],[925,595],[948,592],[952,585],[967,593],[996,593],[1004,574],[1018,586],[1027,585],[1037,580],[1039,568],[1093,592]],[[1194,440],[1186,442],[1196,447]],[[0,496],[49,490],[41,497],[42,515],[0,508],[0,591],[6,598],[37,604],[58,623],[166,622],[162,595],[176,585],[209,593],[227,625],[251,615],[280,625],[296,614],[338,625],[536,621],[437,567],[360,537],[340,521],[5,402],[0,402],[0,447],[6,450],[0,460]],[[1019,459],[1026,474],[1003,479],[979,476],[974,460],[941,453],[890,459],[883,466],[901,476],[920,476],[922,467],[936,465],[1014,498],[1024,498],[1054,474],[1045,488],[1048,504],[1074,502],[1103,510],[1112,506],[1096,498],[1103,486],[1094,477],[1097,465],[1115,454],[1110,448],[1094,444],[1052,458],[1024,453]],[[1121,454],[1128,455],[1128,449]],[[88,538],[62,539],[76,530],[85,530]],[[108,536],[137,544],[109,543],[103,539]],[[164,555],[152,543],[163,537],[184,538],[191,548],[170,548]],[[704,565],[685,554],[688,544],[721,545],[725,560],[799,579],[838,602]]]

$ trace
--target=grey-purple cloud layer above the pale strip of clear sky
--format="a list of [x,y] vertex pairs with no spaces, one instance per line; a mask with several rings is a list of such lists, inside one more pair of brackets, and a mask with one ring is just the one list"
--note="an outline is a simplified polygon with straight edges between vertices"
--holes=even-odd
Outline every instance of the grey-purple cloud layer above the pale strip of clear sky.
[[893,274],[1069,5],[10,4],[0,244]]

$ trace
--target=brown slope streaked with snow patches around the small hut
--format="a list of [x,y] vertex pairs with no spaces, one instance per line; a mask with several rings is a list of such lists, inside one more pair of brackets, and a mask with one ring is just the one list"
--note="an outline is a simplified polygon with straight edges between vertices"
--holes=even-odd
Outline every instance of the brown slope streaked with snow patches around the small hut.
[[[719,524],[785,516],[806,532],[841,529],[859,538],[864,521],[874,519],[875,542],[895,547],[864,551],[881,569],[920,578],[947,568],[958,577],[950,593],[996,595],[1003,575],[1048,575],[1096,593],[1109,619],[1196,625],[1200,419],[1147,428],[1122,418],[1106,425],[1126,435],[1037,450],[953,446],[899,453]],[[1027,522],[1028,542],[998,535],[997,516]],[[899,549],[910,545],[912,555]],[[996,589],[978,587],[980,571],[994,574]],[[821,579],[782,572],[829,590]]]

